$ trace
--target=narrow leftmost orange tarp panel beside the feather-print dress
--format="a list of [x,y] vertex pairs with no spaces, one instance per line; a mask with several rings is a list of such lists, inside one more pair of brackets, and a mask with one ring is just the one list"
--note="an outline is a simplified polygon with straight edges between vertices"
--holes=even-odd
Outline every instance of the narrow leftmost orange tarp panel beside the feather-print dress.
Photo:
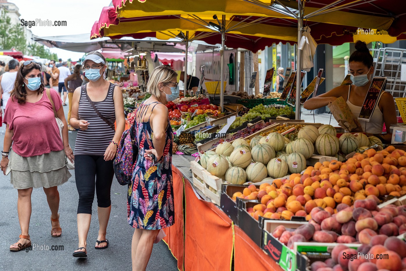
[[183,271],[184,262],[184,219],[183,219],[183,174],[172,166],[173,201],[175,204],[175,224],[164,229],[164,242],[168,245],[172,255],[177,259],[178,269]]

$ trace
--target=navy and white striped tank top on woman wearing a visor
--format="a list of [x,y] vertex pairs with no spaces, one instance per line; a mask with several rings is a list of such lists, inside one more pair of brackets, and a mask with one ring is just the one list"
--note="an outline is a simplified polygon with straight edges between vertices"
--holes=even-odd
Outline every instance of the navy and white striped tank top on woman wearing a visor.
[[[89,126],[85,131],[79,130],[75,143],[75,155],[98,155],[103,156],[110,141],[113,140],[115,131],[100,118],[92,105],[86,98],[86,87],[83,86],[79,99],[79,119],[87,120]],[[115,85],[110,83],[107,96],[103,101],[93,102],[97,110],[107,118],[111,123],[116,121],[114,110],[114,93]]]

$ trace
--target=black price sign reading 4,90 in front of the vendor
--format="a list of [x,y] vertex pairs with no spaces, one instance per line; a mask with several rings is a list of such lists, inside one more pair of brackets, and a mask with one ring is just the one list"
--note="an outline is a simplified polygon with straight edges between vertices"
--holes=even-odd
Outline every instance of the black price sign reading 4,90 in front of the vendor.
[[379,103],[379,99],[384,89],[386,83],[386,77],[375,77],[372,79],[371,85],[369,86],[369,90],[367,92],[367,96],[365,96],[364,103],[361,107],[361,112],[359,113],[358,120],[364,120],[369,122],[371,119],[372,114],[374,114],[374,110],[376,105]]

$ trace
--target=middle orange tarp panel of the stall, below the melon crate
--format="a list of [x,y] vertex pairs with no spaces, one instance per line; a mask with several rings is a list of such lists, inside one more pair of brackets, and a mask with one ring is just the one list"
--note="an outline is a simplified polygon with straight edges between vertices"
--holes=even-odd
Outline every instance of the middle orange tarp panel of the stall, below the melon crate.
[[231,219],[213,203],[198,199],[188,181],[185,196],[185,270],[231,270]]

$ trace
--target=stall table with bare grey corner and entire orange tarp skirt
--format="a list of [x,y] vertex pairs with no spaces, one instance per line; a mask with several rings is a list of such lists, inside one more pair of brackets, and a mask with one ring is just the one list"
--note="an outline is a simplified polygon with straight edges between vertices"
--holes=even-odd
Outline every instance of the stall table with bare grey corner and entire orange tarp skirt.
[[[214,203],[197,194],[189,170],[190,155],[173,156],[175,224],[163,239],[183,270],[281,271]],[[247,261],[248,260],[248,261]]]

